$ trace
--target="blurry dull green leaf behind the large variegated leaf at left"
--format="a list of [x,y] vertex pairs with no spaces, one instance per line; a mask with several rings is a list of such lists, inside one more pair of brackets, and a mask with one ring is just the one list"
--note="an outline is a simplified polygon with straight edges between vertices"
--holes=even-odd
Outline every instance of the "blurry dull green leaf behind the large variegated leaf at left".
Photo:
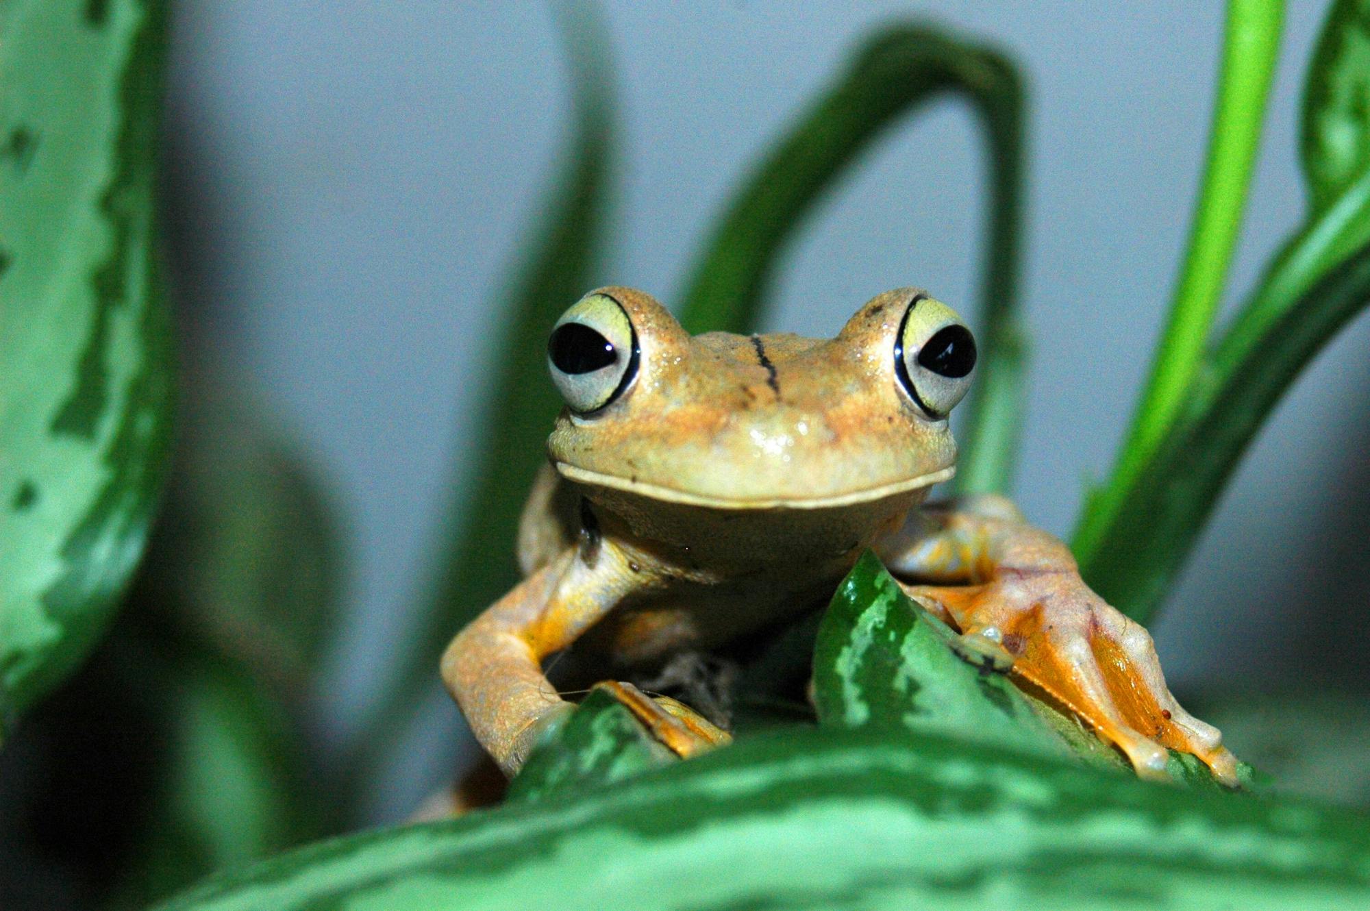
[[337,522],[304,460],[258,414],[222,393],[188,408],[145,574],[175,623],[299,704],[338,616]]

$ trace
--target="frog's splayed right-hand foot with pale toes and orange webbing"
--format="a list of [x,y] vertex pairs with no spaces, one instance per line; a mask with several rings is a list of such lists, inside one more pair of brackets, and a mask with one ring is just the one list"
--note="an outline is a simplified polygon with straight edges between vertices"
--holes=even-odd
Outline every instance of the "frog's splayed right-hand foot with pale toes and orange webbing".
[[1166,779],[1166,748],[1193,753],[1218,781],[1237,785],[1237,760],[1217,727],[1166,686],[1151,636],[1095,595],[1073,570],[1004,571],[967,586],[904,585],[962,632],[962,645],[1085,721],[1143,778]]

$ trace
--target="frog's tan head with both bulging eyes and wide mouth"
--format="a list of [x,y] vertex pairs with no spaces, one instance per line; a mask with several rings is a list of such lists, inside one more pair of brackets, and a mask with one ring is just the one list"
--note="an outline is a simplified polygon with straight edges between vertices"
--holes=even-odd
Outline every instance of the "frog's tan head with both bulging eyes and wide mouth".
[[815,510],[923,490],[955,471],[947,423],[975,342],[914,288],[832,340],[689,336],[649,295],[601,288],[566,311],[548,369],[567,408],[548,440],[571,481],[722,510]]

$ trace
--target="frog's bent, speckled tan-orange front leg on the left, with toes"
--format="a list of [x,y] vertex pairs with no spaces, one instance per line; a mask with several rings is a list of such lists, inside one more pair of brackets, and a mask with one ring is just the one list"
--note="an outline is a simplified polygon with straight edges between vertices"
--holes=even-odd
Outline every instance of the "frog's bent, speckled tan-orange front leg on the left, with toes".
[[[625,597],[669,585],[670,578],[652,566],[608,540],[567,548],[448,645],[443,681],[471,733],[506,774],[516,773],[545,727],[574,708],[544,675],[543,659],[569,647]],[[727,738],[674,700],[649,699],[630,684],[597,686],[677,753]]]

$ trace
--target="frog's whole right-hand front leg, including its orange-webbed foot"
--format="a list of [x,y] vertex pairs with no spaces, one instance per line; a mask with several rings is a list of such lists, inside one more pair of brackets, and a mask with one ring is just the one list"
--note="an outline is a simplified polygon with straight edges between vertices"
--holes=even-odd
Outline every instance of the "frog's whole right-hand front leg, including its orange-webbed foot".
[[1070,549],[1008,500],[926,507],[880,549],[910,596],[1001,647],[1014,677],[1117,744],[1138,775],[1164,778],[1170,747],[1237,784],[1219,732],[1171,696],[1147,630],[1095,595]]

